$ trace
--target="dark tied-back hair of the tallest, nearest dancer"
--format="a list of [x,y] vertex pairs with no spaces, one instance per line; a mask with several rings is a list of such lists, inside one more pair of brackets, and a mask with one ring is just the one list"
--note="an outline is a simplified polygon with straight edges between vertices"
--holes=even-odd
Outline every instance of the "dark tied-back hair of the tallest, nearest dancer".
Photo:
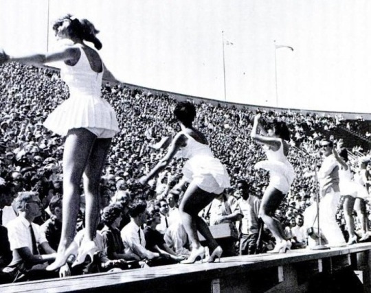
[[63,25],[65,21],[69,21],[67,32],[70,37],[78,37],[82,40],[87,40],[88,42],[93,43],[96,49],[102,49],[102,43],[100,43],[100,40],[98,40],[98,38],[95,36],[99,33],[99,30],[95,28],[93,23],[91,23],[87,19],[77,19],[71,14],[67,14],[54,23],[53,30],[57,32],[58,27]]

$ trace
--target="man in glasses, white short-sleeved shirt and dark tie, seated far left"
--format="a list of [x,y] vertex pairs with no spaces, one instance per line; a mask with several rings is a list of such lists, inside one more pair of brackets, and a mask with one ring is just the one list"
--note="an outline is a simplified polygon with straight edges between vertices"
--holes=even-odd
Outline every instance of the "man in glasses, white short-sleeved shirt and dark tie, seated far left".
[[[55,259],[56,251],[49,246],[41,227],[33,223],[41,214],[38,194],[33,191],[20,192],[16,198],[16,208],[19,211],[18,217],[8,223],[13,257],[10,265],[4,269],[5,272],[11,274],[14,281],[58,277],[58,273],[45,270],[47,261]],[[60,267],[59,274],[60,277],[69,275],[69,267]]]

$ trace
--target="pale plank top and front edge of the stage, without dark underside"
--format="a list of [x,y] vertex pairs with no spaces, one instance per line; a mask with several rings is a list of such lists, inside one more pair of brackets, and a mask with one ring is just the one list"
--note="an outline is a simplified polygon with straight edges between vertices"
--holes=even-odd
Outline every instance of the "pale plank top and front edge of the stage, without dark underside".
[[[0,285],[1,293],[13,292],[91,292],[102,290],[125,290],[125,292],[146,292],[153,288],[164,288],[171,285],[190,284],[191,282],[207,282],[214,279],[227,278],[236,274],[249,274],[251,271],[264,268],[278,268],[288,263],[302,263],[344,256],[349,253],[360,253],[371,250],[371,244],[354,244],[346,248],[330,250],[290,250],[286,254],[244,255],[225,257],[218,263],[194,263],[191,265],[176,264],[155,268],[126,270],[124,272],[87,274],[65,279],[49,279],[27,283]],[[341,258],[340,258],[341,259]],[[211,289],[211,287],[210,287]],[[166,291],[166,290],[164,290]],[[169,291],[170,292],[170,291]]]

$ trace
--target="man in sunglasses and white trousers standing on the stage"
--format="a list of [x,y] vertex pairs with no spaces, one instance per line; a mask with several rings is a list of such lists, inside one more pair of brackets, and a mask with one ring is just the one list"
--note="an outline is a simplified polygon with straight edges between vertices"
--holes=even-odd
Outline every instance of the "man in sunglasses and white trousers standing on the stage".
[[337,205],[340,200],[339,189],[339,163],[335,156],[337,152],[333,142],[323,140],[320,142],[320,154],[324,161],[318,171],[319,194],[319,225],[328,246],[346,245],[344,235],[336,222]]

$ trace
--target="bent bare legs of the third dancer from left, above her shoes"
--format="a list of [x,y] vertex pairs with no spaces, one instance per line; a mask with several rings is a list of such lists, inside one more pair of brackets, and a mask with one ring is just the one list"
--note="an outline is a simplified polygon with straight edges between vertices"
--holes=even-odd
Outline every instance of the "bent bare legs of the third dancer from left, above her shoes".
[[267,187],[262,202],[260,204],[259,217],[262,218],[263,222],[269,228],[269,231],[273,234],[276,239],[276,244],[286,240],[286,236],[283,233],[283,228],[276,218],[273,217],[274,212],[282,202],[282,192],[274,187]]

